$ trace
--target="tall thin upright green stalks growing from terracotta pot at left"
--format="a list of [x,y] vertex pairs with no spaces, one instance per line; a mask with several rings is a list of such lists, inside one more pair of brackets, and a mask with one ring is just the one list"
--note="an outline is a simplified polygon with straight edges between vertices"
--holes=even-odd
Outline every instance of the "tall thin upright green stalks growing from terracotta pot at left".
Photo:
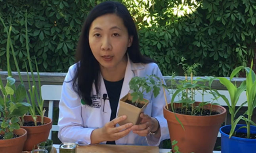
[[[2,21],[2,24],[4,25],[4,28],[6,28],[6,25],[4,24],[4,21],[2,20],[1,17],[0,17],[0,20]],[[31,77],[32,77],[32,86],[31,86],[31,81],[29,79],[29,71],[28,71],[28,68],[27,68],[27,65],[26,65],[26,68],[27,68],[27,78],[28,78],[28,82],[29,82],[29,95],[26,92],[26,99],[27,99],[27,102],[29,104],[31,104],[30,107],[29,107],[29,113],[30,113],[30,115],[32,116],[32,118],[34,120],[34,125],[37,126],[37,123],[36,123],[36,118],[37,118],[36,117],[36,111],[41,116],[41,123],[43,125],[44,124],[44,113],[45,113],[46,110],[43,108],[44,101],[42,100],[42,96],[41,96],[41,88],[40,88],[41,83],[40,83],[40,76],[39,76],[39,73],[38,73],[37,62],[35,60],[36,72],[37,72],[37,78],[38,78],[39,94],[37,92],[35,76],[34,76],[34,72],[33,72],[33,69],[32,69],[32,63],[31,63],[31,58],[30,58],[30,54],[29,54],[29,38],[28,38],[28,33],[27,33],[28,32],[28,30],[27,30],[27,11],[25,13],[25,28],[26,28],[25,29],[25,38],[26,38],[27,60],[28,60],[28,63],[29,63],[29,69],[30,69]],[[9,35],[10,31],[8,32],[6,30],[6,33]],[[17,63],[17,59],[16,59],[16,56],[15,56],[15,52],[14,52],[13,45],[12,45],[11,41],[10,41],[10,47],[11,47],[11,51],[12,51],[12,54],[13,54],[14,63],[15,63],[17,72],[19,74],[19,79],[20,79],[21,83],[24,84],[23,79],[21,77],[21,73],[20,73],[20,70],[19,70],[19,65]],[[36,101],[38,103],[38,107],[36,106]],[[21,125],[23,125],[23,121],[24,120],[23,120],[23,117],[22,117],[22,121],[20,123]]]

